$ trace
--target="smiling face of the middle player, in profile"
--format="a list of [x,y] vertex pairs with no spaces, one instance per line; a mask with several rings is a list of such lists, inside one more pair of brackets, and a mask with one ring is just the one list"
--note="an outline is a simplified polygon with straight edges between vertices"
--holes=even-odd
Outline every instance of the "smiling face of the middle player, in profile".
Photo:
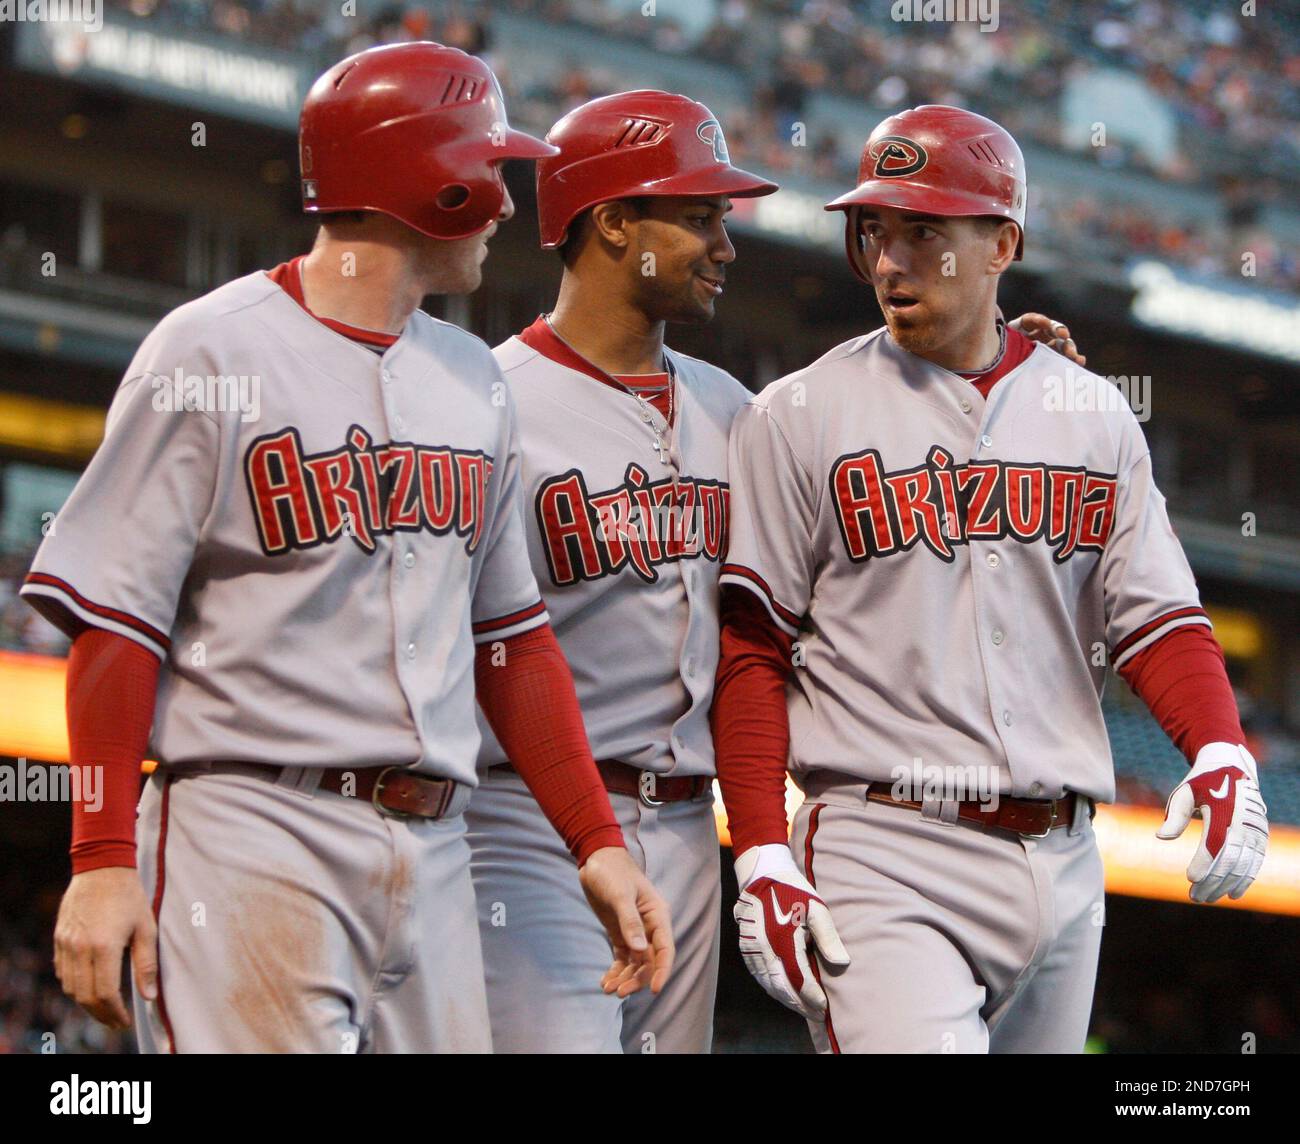
[[629,221],[628,270],[637,299],[654,321],[706,322],[722,296],[736,247],[727,235],[731,199],[651,198]]

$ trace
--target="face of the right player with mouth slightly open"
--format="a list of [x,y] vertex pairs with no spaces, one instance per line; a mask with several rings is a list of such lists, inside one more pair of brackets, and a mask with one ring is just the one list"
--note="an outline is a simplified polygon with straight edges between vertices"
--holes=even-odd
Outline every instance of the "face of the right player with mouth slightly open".
[[1005,269],[998,228],[892,207],[859,208],[857,218],[862,265],[900,346],[924,355],[984,320]]

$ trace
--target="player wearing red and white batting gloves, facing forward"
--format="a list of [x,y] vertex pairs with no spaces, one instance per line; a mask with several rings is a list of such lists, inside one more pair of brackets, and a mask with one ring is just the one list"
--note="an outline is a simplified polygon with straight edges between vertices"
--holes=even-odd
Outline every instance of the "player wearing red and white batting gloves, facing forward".
[[[1256,766],[1138,421],[997,320],[1024,196],[997,124],[880,124],[827,209],[885,328],[732,429],[712,718],[736,918],[822,1052],[1082,1049],[1108,654],[1192,764],[1160,829],[1204,819],[1191,897],[1239,898],[1264,858]],[[788,845],[786,764],[807,796]]]

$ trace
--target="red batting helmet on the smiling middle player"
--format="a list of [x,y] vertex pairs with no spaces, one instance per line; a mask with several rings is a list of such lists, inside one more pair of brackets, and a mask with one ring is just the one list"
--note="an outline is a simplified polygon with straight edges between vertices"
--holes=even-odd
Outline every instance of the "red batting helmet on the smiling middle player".
[[776,183],[731,165],[708,108],[667,91],[624,91],[571,110],[546,135],[559,153],[537,164],[542,246],[597,203],[641,195],[770,195]]

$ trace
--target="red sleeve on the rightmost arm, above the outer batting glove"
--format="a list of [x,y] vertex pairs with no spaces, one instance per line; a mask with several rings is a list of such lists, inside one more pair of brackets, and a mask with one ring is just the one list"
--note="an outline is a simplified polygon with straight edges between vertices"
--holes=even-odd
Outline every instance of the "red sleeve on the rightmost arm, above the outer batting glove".
[[1121,667],[1119,676],[1188,762],[1208,742],[1245,742],[1223,649],[1209,628],[1174,628]]

